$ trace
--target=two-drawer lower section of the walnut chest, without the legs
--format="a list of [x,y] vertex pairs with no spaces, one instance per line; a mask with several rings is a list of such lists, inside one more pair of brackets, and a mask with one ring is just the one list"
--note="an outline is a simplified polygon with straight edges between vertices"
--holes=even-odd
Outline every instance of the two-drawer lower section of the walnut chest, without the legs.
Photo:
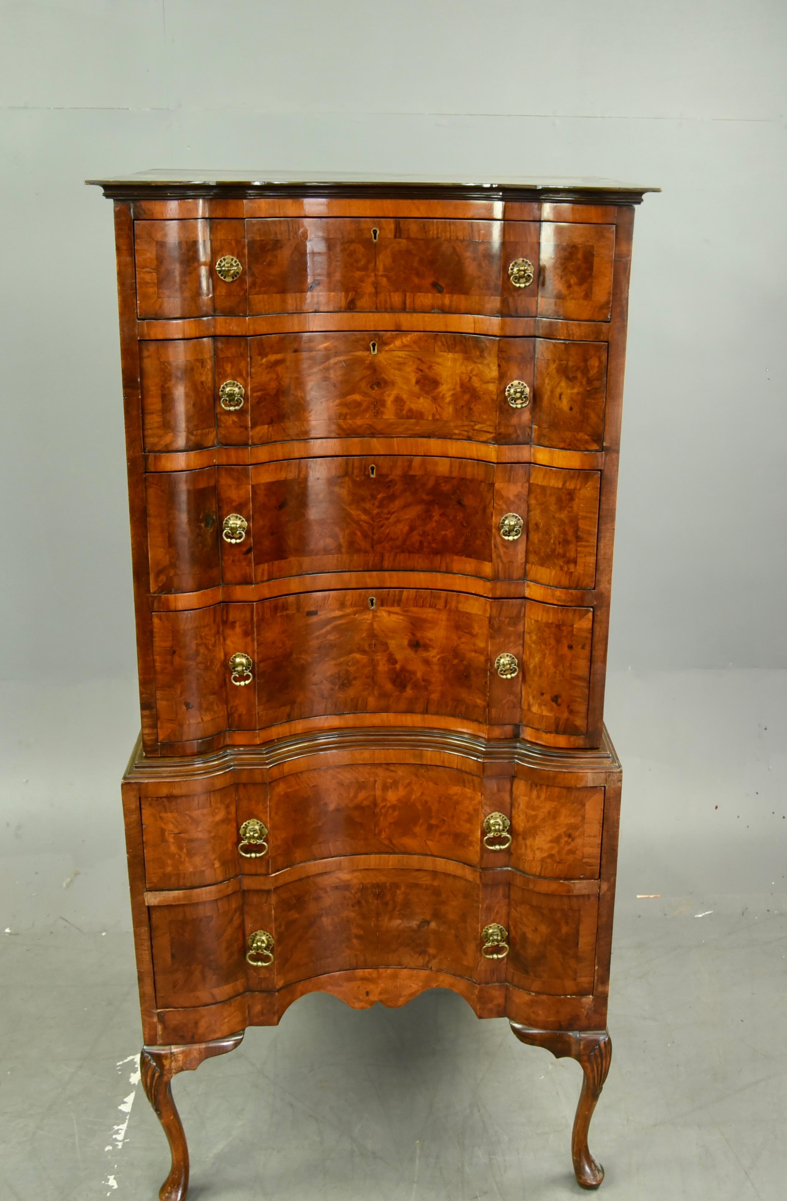
[[505,1012],[507,990],[591,1004],[607,776],[424,751],[332,758],[135,794],[157,1011],[270,1015],[363,981],[370,1004],[390,969],[398,988],[457,987],[477,1011]]

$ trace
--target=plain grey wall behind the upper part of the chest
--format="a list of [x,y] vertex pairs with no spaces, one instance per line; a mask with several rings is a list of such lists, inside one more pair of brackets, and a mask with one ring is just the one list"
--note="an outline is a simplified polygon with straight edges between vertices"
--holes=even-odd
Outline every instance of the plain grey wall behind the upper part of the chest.
[[148,167],[607,175],[637,215],[613,667],[787,663],[783,0],[2,5],[0,675],[133,673],[112,213]]

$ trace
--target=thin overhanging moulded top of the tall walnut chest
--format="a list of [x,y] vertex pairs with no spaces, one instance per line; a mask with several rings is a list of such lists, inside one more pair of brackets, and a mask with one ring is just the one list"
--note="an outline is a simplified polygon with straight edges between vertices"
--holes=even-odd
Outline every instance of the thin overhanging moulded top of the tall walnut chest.
[[639,204],[645,192],[660,187],[625,184],[615,179],[508,175],[460,181],[435,175],[423,180],[411,175],[357,172],[254,172],[177,171],[161,168],[111,179],[88,179],[113,199],[153,197],[254,197],[254,196],[397,196],[435,199],[535,199],[586,203]]

